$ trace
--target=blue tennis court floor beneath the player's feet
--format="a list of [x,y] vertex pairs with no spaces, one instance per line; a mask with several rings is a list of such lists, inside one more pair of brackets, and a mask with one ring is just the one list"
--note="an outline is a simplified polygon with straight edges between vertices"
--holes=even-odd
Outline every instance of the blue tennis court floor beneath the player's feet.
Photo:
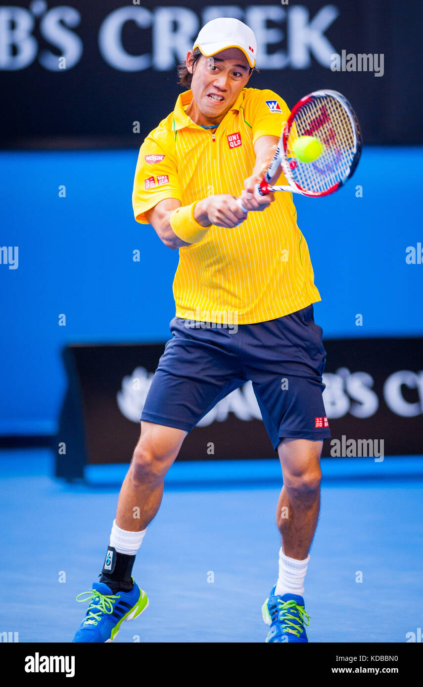
[[[47,449],[0,456],[0,630],[19,642],[72,640],[86,608],[75,597],[98,579],[126,469],[88,466],[87,483],[67,484],[52,465]],[[423,624],[423,458],[322,466],[309,640],[406,642]],[[116,642],[264,642],[280,486],[277,460],[176,462],[134,567],[149,608]]]

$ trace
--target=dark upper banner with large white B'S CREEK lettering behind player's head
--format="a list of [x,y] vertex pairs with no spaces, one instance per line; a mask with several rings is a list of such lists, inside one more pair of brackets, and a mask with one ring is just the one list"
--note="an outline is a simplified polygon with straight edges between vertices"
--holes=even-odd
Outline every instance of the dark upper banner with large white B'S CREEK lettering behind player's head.
[[175,67],[216,16],[257,36],[250,86],[290,107],[335,89],[365,143],[423,142],[420,3],[11,0],[0,4],[0,146],[139,146],[172,111]]

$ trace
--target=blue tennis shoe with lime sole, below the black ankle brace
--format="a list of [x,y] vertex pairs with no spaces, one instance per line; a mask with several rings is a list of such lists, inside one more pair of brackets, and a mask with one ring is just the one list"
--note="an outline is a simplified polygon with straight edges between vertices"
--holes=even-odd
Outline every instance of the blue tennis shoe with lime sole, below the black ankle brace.
[[89,601],[89,606],[72,643],[113,642],[122,622],[133,620],[149,605],[147,594],[135,583],[130,592],[113,594],[105,583],[94,582],[92,589],[78,594],[76,600]]

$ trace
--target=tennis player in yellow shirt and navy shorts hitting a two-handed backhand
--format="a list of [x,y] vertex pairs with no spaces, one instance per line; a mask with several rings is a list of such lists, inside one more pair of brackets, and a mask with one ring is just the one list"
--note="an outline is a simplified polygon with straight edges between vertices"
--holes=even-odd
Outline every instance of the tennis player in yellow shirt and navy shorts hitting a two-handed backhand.
[[208,22],[179,67],[188,90],[140,148],[133,210],[164,245],[179,249],[176,316],[142,411],[100,582],[80,595],[89,607],[74,642],[110,642],[123,620],[147,607],[131,571],[164,477],[186,434],[248,380],[283,473],[279,576],[262,609],[266,641],[308,641],[303,585],[319,512],[321,449],[330,436],[325,350],[312,305],[321,298],[292,194],[254,190],[289,116],[274,91],[247,87],[256,58],[247,25]]

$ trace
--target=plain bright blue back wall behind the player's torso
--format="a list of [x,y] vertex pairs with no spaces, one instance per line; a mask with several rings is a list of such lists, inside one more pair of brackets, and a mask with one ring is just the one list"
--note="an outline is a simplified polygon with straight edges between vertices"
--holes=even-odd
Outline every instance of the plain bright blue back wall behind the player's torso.
[[[169,339],[178,254],[133,219],[136,158],[0,153],[0,246],[19,246],[18,269],[0,264],[0,434],[55,431],[65,344]],[[405,262],[406,247],[423,243],[422,162],[422,148],[365,148],[338,194],[296,200],[325,337],[423,334],[423,264]],[[395,170],[410,175],[406,188],[391,187]]]

